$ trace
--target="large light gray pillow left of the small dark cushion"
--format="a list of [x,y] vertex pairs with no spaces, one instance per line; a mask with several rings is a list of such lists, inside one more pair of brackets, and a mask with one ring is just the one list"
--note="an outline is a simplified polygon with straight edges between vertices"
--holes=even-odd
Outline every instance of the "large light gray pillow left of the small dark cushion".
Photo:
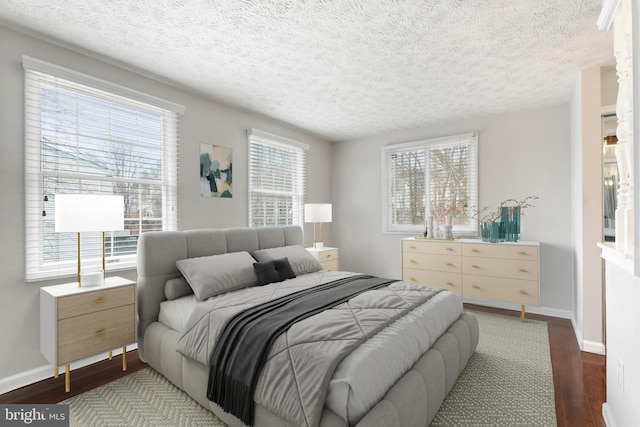
[[176,261],[189,286],[200,301],[209,297],[258,284],[249,252],[231,252]]

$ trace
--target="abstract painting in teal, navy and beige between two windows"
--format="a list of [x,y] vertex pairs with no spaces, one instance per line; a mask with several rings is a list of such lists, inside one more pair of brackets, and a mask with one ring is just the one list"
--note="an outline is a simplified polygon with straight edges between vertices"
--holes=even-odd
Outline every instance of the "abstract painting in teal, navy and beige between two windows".
[[231,148],[200,143],[202,197],[233,197],[232,160]]

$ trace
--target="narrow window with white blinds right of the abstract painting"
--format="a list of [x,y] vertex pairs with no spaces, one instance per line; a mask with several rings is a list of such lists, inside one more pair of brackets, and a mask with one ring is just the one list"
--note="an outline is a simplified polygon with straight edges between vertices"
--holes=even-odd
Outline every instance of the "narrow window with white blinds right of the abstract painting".
[[307,151],[301,142],[249,134],[249,226],[302,225]]

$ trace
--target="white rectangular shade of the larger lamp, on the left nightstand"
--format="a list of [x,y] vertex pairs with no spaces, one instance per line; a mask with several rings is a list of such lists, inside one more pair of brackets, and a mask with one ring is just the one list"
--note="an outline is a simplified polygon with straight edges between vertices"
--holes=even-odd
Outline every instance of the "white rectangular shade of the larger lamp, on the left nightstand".
[[56,233],[124,229],[124,197],[112,194],[56,194]]

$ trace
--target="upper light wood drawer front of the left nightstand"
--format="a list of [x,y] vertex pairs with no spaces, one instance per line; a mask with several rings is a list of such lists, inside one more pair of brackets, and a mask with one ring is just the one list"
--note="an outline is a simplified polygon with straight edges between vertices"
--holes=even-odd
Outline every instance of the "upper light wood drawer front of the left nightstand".
[[108,310],[131,304],[135,300],[133,286],[96,290],[58,298],[58,319]]

